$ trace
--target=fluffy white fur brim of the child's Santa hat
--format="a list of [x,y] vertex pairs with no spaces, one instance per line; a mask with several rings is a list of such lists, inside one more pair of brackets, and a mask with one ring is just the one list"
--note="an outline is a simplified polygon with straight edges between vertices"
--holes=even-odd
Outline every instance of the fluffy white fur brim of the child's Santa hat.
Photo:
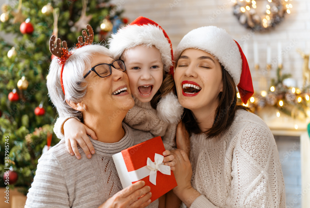
[[169,73],[172,66],[170,43],[162,29],[152,24],[127,25],[111,35],[108,45],[115,59],[119,59],[128,48],[138,45],[155,46],[162,55],[164,70]]

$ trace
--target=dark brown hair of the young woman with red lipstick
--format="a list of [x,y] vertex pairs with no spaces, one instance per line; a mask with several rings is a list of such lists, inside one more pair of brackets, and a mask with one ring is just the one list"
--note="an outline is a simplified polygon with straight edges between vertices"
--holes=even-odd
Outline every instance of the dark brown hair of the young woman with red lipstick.
[[202,132],[199,129],[196,119],[194,118],[191,110],[184,108],[182,121],[188,133],[203,133],[206,135],[207,139],[214,138],[218,136],[221,132],[228,129],[228,127],[232,124],[235,113],[238,109],[245,109],[247,111],[250,111],[250,108],[246,106],[237,105],[236,84],[223,66],[222,80],[223,92],[219,93],[219,106],[215,110],[215,118],[212,127]]

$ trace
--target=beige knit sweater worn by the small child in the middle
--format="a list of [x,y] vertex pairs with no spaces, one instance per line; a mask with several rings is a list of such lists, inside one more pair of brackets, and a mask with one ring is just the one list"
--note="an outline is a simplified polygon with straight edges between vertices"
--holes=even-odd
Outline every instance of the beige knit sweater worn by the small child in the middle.
[[[124,122],[133,129],[149,131],[154,136],[161,136],[166,149],[171,150],[175,148],[175,133],[177,124],[169,124],[160,120],[157,116],[157,111],[152,108],[150,102],[142,103],[135,97],[134,100],[135,105],[126,114]],[[54,132],[60,139],[64,138],[62,128],[64,122],[69,118],[78,119],[78,117],[75,116],[57,118],[54,126]]]

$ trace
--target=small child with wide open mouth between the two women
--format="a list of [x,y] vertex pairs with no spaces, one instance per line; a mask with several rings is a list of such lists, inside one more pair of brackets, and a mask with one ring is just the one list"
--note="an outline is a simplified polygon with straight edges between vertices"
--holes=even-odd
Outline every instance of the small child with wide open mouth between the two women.
[[[124,122],[132,128],[149,131],[154,136],[162,136],[165,148],[172,149],[176,146],[176,126],[183,113],[183,107],[172,88],[168,87],[171,86],[173,75],[173,51],[166,32],[154,21],[138,17],[113,34],[108,43],[114,58],[123,59],[125,62],[135,100],[135,106],[129,110]],[[76,146],[78,142],[90,158],[88,149],[92,154],[95,151],[86,134],[96,138],[94,132],[77,119],[69,118],[76,117],[57,120],[54,127],[56,135],[59,138],[64,137],[62,128],[65,122],[68,151],[71,155],[74,152],[79,159],[80,154]]]

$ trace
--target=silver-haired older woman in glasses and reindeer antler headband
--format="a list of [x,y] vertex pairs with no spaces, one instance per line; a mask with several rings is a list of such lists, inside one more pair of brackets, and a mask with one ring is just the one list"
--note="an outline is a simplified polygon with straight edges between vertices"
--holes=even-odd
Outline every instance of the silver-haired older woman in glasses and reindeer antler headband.
[[158,200],[150,204],[150,187],[143,181],[122,190],[112,159],[153,137],[122,123],[134,105],[123,61],[113,60],[104,46],[91,44],[65,55],[69,58],[61,62],[63,70],[56,58],[51,62],[49,96],[60,116],[76,115],[95,132],[98,139],[90,139],[96,153],[77,160],[61,140],[39,159],[25,207],[157,207]]

